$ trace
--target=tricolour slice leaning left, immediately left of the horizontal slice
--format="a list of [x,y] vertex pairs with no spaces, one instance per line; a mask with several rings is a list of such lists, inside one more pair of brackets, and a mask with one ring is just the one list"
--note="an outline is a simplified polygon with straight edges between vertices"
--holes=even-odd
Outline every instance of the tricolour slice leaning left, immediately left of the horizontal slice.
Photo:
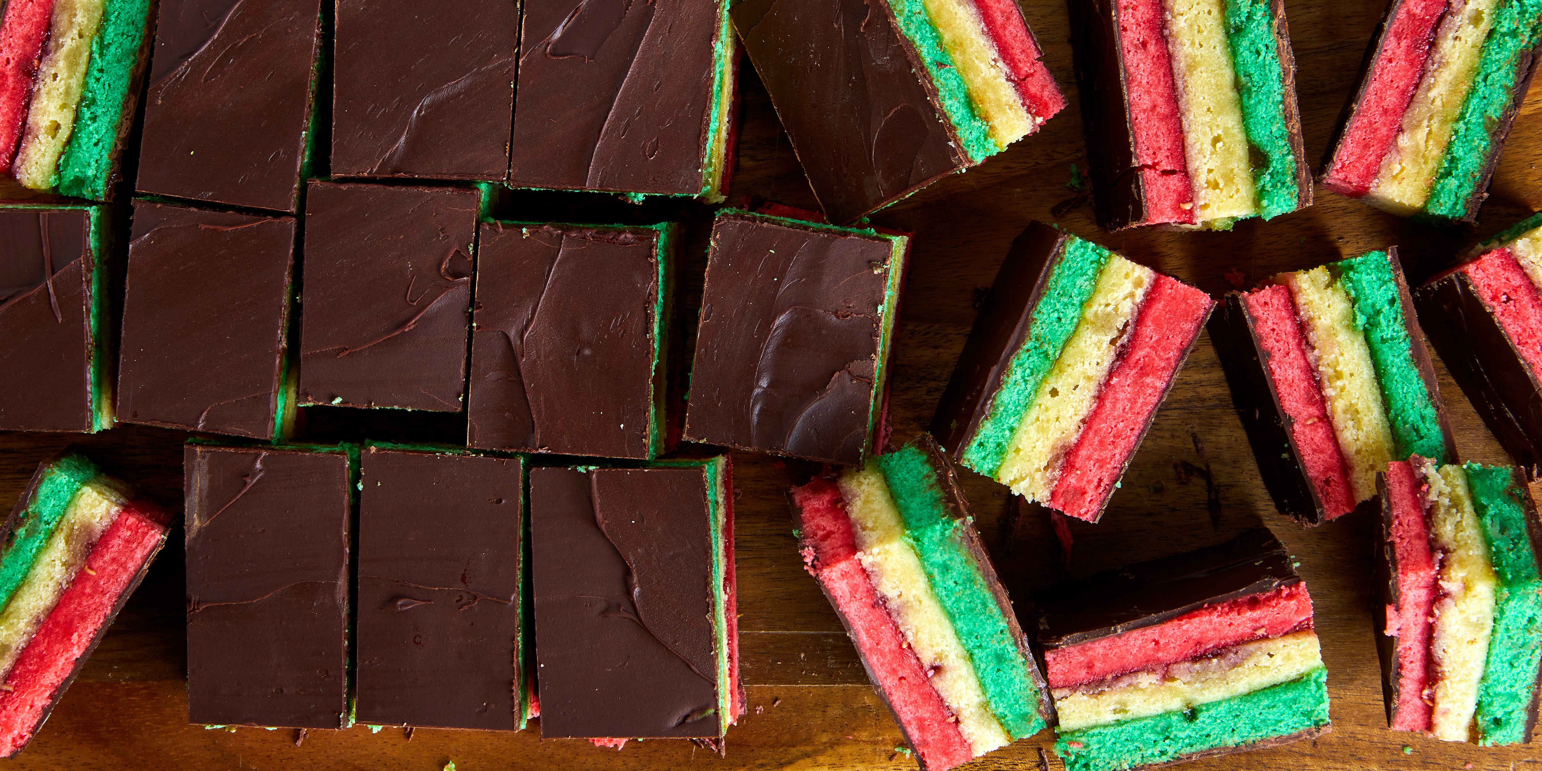
[[1053,720],[953,464],[930,436],[793,489],[819,580],[922,768],[965,763]]

